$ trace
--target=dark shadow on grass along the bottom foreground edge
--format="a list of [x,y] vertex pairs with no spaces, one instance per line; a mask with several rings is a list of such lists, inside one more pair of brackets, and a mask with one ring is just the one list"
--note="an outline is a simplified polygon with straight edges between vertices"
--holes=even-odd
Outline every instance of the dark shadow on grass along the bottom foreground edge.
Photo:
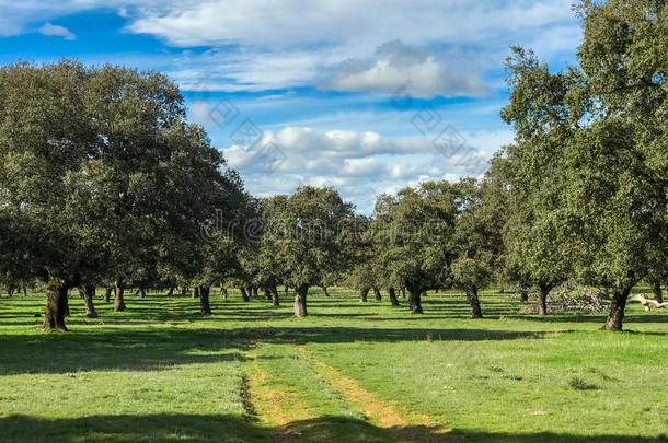
[[594,442],[658,443],[661,436],[594,435],[557,433],[490,433],[454,430],[436,433],[426,427],[379,428],[349,417],[320,417],[295,421],[283,428],[267,428],[255,420],[217,415],[133,415],[90,416],[67,419],[42,419],[27,416],[0,418],[3,442],[99,441],[135,442]]

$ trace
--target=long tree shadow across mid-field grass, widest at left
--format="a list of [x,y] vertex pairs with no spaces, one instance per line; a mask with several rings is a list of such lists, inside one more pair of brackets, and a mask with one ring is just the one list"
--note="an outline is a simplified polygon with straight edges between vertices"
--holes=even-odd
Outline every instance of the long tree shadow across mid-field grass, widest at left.
[[258,341],[480,341],[542,338],[542,333],[487,329],[256,327],[238,329],[88,328],[68,334],[8,335],[0,341],[0,374],[94,370],[160,371],[174,365],[239,361]]

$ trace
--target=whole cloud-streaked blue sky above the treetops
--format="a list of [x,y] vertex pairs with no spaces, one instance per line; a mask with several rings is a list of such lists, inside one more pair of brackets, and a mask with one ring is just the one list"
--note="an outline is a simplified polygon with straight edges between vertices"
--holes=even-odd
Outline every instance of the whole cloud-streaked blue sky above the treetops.
[[368,212],[380,193],[484,171],[512,139],[509,46],[575,62],[571,2],[0,0],[0,62],[164,72],[250,191],[335,186]]

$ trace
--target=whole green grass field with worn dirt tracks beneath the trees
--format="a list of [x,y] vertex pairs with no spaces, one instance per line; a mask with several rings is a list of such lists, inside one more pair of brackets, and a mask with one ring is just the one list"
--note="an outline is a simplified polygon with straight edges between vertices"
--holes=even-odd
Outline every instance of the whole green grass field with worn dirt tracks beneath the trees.
[[[425,315],[318,291],[307,318],[212,295],[70,301],[39,329],[39,294],[0,300],[0,441],[667,442],[668,315],[519,315],[483,293],[430,294]],[[405,304],[405,303],[404,303]]]

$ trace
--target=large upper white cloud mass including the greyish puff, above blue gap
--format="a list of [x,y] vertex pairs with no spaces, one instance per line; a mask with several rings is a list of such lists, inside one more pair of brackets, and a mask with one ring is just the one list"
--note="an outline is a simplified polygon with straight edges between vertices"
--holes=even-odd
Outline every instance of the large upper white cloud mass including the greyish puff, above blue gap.
[[490,89],[485,70],[498,70],[511,44],[540,45],[545,57],[573,51],[579,27],[571,2],[208,0],[141,9],[128,30],[174,46],[221,47],[195,56],[186,71],[195,66],[226,91],[391,92],[412,79],[421,97],[480,96]]

